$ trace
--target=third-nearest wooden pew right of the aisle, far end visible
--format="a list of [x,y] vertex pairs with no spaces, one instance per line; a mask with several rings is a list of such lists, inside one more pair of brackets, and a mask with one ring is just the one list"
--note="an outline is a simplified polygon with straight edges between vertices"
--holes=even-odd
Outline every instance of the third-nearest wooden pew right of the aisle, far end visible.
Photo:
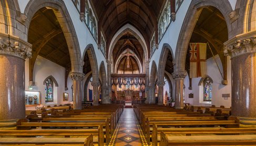
[[147,126],[146,126],[146,139],[147,142],[150,142],[150,127],[153,124],[157,124],[157,126],[165,126],[165,127],[197,127],[197,126],[221,126],[226,128],[239,128],[239,122],[235,120],[214,120],[214,121],[206,121],[206,120],[198,120],[198,121],[151,121],[149,122],[147,118]]

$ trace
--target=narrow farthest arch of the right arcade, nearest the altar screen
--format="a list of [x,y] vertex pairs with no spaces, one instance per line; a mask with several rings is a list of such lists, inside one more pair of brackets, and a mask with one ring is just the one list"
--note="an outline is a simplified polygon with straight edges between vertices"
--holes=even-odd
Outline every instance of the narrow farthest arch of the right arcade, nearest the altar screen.
[[150,71],[150,85],[149,85],[149,97],[148,103],[156,103],[156,81],[157,81],[157,65],[153,60]]

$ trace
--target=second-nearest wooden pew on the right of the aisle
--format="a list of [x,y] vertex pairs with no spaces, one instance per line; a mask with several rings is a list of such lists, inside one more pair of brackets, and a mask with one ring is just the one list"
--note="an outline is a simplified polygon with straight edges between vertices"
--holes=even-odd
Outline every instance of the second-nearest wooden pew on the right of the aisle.
[[167,136],[169,134],[255,134],[256,128],[158,128],[156,124],[153,124],[152,130],[152,145],[156,146],[160,139],[158,135],[164,132]]

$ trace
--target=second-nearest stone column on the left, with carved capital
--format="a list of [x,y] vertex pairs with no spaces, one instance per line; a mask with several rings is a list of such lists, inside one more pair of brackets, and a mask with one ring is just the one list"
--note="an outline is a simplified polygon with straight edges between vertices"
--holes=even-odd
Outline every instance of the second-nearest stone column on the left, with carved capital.
[[68,76],[73,81],[73,109],[82,109],[81,81],[85,78],[85,74],[71,71]]

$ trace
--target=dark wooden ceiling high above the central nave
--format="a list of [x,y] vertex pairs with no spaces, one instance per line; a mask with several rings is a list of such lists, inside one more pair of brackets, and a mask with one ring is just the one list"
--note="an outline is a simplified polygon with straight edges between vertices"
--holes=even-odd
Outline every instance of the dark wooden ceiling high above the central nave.
[[[136,27],[149,41],[166,0],[91,0],[107,43],[125,24]],[[147,42],[149,44],[149,42]],[[109,45],[109,44],[108,44]]]

